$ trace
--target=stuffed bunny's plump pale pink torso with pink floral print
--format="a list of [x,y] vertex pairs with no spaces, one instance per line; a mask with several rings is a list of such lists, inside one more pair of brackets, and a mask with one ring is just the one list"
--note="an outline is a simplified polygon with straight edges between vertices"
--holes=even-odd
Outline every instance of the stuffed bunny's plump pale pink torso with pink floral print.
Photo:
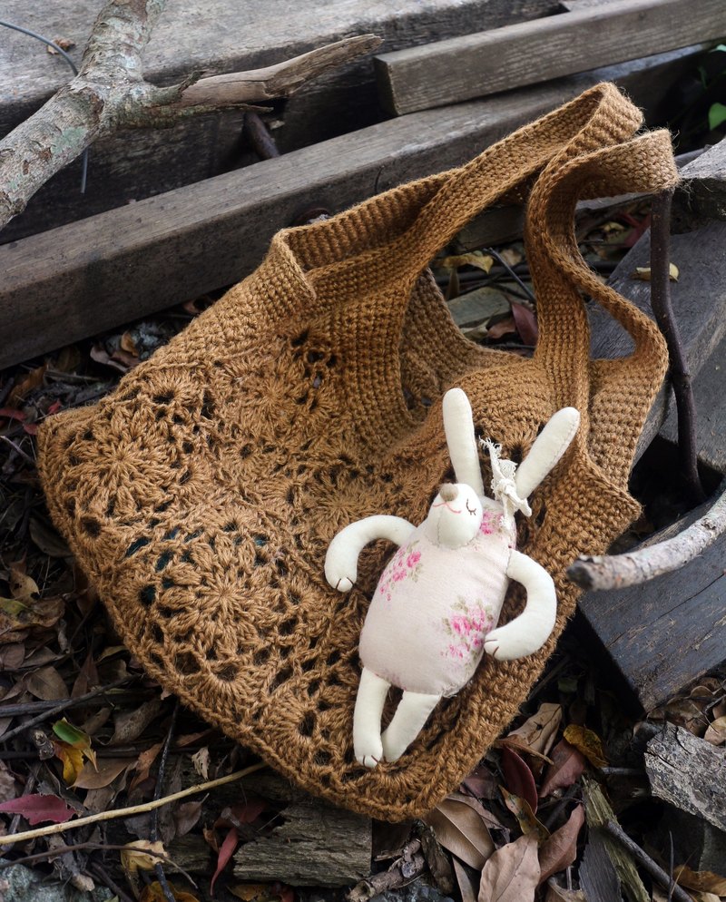
[[[491,502],[490,502],[491,504]],[[434,544],[418,526],[388,562],[360,635],[360,660],[394,686],[454,695],[476,671],[504,602],[515,547],[501,508],[485,510],[462,548]]]

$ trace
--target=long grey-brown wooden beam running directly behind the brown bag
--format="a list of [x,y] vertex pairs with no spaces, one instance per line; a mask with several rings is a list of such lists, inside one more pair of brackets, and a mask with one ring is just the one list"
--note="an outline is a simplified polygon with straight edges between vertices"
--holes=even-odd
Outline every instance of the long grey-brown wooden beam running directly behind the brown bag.
[[597,75],[371,126],[0,247],[0,368],[250,273],[302,208],[464,162]]

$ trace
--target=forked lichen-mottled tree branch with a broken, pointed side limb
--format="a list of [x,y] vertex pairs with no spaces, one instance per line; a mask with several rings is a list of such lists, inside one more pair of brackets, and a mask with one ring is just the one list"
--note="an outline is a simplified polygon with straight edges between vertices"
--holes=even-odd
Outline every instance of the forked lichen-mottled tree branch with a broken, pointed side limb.
[[166,0],[109,0],[93,25],[73,81],[0,142],[0,229],[98,138],[288,97],[311,78],[381,43],[364,34],[266,69],[208,78],[193,74],[181,84],[160,88],[144,81],[142,52],[165,5]]

